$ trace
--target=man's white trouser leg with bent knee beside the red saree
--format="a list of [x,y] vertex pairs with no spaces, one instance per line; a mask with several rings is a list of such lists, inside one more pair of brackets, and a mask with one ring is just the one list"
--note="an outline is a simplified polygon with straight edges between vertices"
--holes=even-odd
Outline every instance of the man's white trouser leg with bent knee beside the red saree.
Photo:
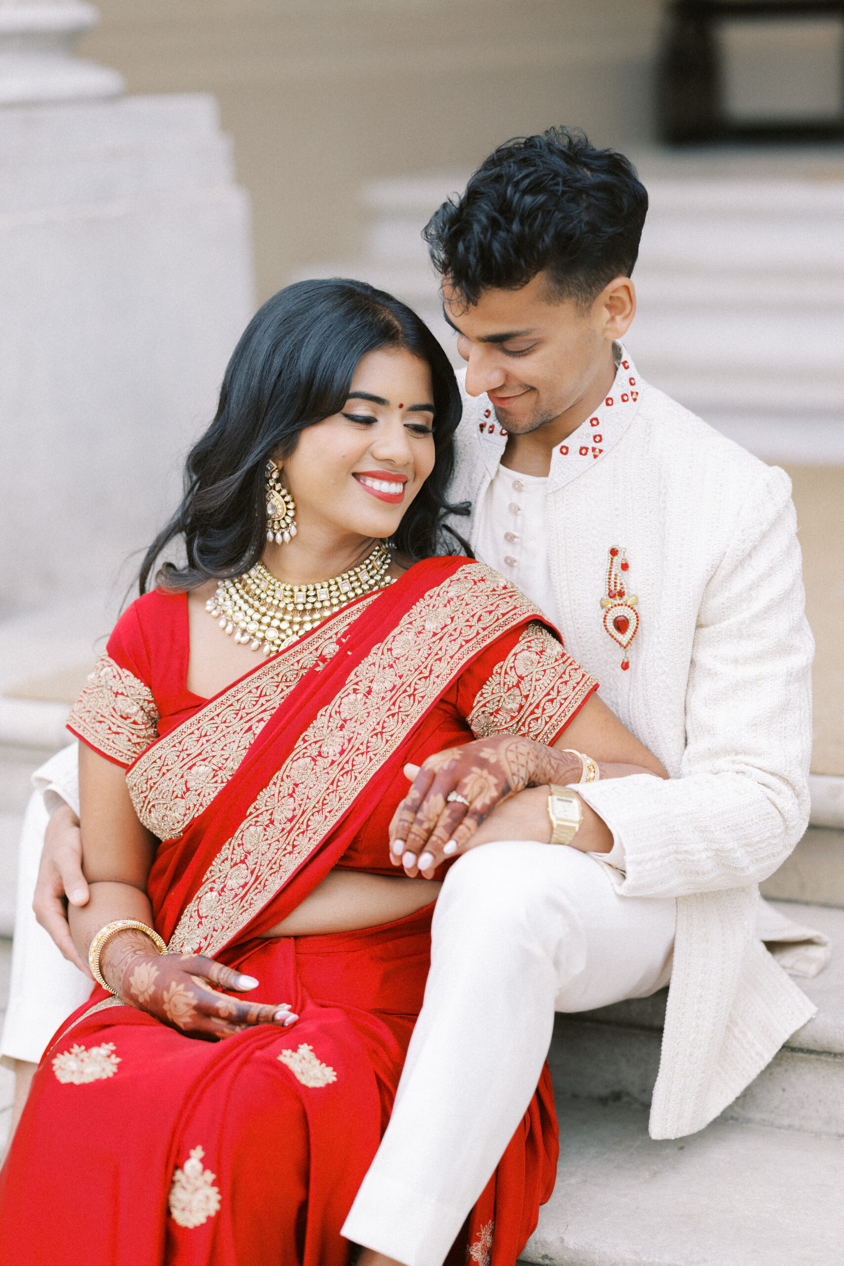
[[626,898],[573,848],[483,844],[443,885],[425,1004],[390,1125],[343,1227],[442,1266],[537,1089],[554,1010],[668,982],[673,898]]

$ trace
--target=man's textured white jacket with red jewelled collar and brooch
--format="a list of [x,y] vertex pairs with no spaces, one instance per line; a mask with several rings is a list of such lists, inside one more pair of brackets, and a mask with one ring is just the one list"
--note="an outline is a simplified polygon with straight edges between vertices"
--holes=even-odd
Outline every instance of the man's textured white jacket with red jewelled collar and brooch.
[[[717,1115],[814,1010],[754,938],[757,885],[809,822],[814,643],[787,475],[636,386],[609,451],[549,487],[539,530],[566,648],[671,775],[578,791],[621,846],[619,891],[681,899],[650,1114],[653,1137],[674,1138]],[[473,506],[506,443],[500,428],[481,436],[488,408],[467,398],[459,428],[450,495]],[[478,528],[476,514],[475,542]],[[638,596],[628,671],[600,605],[611,547]]]

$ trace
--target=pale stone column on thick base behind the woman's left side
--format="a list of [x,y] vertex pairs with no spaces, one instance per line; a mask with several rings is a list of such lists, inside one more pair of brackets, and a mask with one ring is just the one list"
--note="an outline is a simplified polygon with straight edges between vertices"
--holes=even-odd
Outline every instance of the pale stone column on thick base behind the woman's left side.
[[[73,56],[95,20],[0,0],[0,634],[148,543],[253,310],[216,103],[120,95]],[[25,644],[0,690],[37,668]]]

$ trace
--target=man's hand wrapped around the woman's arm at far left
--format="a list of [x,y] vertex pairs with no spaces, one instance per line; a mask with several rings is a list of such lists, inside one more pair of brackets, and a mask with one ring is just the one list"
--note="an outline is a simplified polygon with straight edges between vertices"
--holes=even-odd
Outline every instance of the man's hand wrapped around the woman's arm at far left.
[[42,928],[51,934],[68,962],[94,980],[89,965],[73,944],[66,906],[66,901],[71,905],[87,905],[89,898],[89,886],[82,875],[80,820],[71,806],[62,803],[47,823],[32,908]]

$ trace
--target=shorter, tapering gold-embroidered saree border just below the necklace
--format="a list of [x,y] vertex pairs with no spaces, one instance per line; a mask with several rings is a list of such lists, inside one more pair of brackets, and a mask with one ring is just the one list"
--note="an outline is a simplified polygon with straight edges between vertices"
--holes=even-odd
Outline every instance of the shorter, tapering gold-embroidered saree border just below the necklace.
[[305,672],[338,651],[338,639],[378,595],[268,660],[159,739],[127,774],[135,813],[159,839],[176,839],[223,790],[249,747]]

